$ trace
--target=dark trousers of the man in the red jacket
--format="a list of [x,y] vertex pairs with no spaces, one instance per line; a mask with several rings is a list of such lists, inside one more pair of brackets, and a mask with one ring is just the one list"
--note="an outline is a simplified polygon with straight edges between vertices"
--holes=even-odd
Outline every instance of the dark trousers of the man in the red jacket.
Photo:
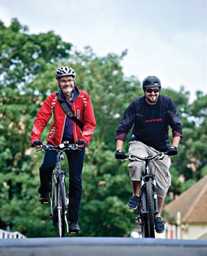
[[[66,151],[69,164],[69,221],[78,221],[80,199],[82,195],[81,174],[84,163],[84,149]],[[40,194],[50,192],[52,172],[56,164],[57,153],[55,151],[45,151],[45,157],[40,167],[41,185],[38,190]]]

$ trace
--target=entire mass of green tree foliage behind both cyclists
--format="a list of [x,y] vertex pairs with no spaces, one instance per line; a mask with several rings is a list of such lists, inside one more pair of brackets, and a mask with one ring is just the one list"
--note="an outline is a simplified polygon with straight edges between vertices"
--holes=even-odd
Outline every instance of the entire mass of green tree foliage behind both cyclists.
[[[143,92],[136,77],[123,74],[121,61],[127,51],[104,57],[90,47],[72,52],[71,43],[52,31],[29,34],[18,20],[11,20],[9,27],[0,21],[0,37],[0,227],[28,237],[57,236],[48,219],[49,207],[38,203],[43,153],[29,148],[29,141],[38,109],[51,91],[58,90],[55,70],[72,65],[77,85],[90,93],[97,120],[84,162],[80,236],[129,236],[135,225],[135,214],[126,207],[132,188],[127,163],[114,159],[115,130],[127,105]],[[162,93],[174,99],[183,121],[179,155],[172,157],[170,168],[169,195],[175,196],[207,174],[207,96],[197,92],[189,104],[183,87]],[[127,151],[127,143],[124,147]],[[166,201],[172,199],[169,195]]]

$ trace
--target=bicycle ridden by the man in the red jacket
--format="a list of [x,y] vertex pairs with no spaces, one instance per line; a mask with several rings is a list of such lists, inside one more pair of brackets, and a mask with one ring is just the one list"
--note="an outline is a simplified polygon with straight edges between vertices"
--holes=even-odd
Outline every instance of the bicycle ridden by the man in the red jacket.
[[58,228],[58,235],[65,236],[69,233],[67,221],[67,191],[65,184],[66,172],[61,169],[60,161],[64,159],[63,152],[67,150],[80,150],[75,144],[65,141],[58,146],[51,144],[42,145],[40,150],[54,150],[57,152],[56,167],[52,174],[51,192],[50,192],[50,218],[54,227]]

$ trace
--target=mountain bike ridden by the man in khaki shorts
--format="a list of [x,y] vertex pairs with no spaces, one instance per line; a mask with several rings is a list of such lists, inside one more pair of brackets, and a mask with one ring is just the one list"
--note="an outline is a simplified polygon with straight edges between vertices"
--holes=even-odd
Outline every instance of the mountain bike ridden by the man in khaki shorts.
[[155,237],[154,223],[158,213],[156,175],[149,170],[149,161],[162,160],[164,152],[152,157],[126,156],[122,161],[144,161],[144,172],[141,175],[140,202],[136,213],[136,223],[141,226],[142,237]]

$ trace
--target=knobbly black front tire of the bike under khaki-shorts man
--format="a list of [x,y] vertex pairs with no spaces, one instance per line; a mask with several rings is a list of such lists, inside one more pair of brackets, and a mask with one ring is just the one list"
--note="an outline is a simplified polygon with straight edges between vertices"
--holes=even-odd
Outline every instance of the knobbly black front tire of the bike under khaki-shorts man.
[[153,204],[153,188],[152,183],[146,183],[147,191],[147,206],[148,206],[148,223],[149,223],[149,237],[155,237],[154,232],[154,204]]

